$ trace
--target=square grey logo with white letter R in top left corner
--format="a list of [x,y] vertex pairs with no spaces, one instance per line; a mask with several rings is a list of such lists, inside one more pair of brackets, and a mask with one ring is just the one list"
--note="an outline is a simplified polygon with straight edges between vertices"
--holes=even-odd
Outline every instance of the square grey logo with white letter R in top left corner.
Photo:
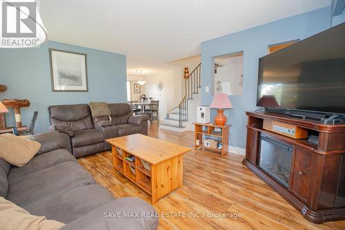
[[36,3],[2,3],[2,37],[36,37]]

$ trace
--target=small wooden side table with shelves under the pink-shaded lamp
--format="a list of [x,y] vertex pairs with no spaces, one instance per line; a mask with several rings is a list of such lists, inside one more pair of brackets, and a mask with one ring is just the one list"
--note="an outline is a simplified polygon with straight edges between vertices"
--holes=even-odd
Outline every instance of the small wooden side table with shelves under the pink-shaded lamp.
[[[215,151],[217,153],[221,153],[221,157],[228,154],[230,124],[225,124],[224,126],[218,126],[217,124],[213,123],[195,122],[193,124],[195,125],[195,149],[201,148]],[[219,128],[221,133],[215,133],[215,128]],[[212,139],[221,142],[221,149],[204,146],[205,139]]]

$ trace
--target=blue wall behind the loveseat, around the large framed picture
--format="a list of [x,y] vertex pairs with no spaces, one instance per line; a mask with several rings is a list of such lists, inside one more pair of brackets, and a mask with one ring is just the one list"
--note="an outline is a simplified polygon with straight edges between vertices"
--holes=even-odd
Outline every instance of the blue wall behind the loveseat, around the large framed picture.
[[[86,53],[88,92],[52,92],[48,48]],[[0,49],[0,84],[8,90],[0,99],[29,99],[31,106],[21,109],[23,125],[30,124],[39,111],[35,133],[48,131],[48,106],[88,102],[126,102],[126,56],[80,46],[48,41],[39,48]],[[8,126],[14,116],[6,114]]]

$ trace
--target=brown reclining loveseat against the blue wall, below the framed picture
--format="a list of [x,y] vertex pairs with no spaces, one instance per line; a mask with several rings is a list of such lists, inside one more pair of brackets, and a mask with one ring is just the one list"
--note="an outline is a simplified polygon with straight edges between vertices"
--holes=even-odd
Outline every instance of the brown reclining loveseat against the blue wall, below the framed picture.
[[133,116],[129,104],[108,104],[111,115],[92,117],[87,104],[49,106],[50,130],[70,136],[71,153],[82,157],[111,148],[112,137],[148,134],[148,116]]

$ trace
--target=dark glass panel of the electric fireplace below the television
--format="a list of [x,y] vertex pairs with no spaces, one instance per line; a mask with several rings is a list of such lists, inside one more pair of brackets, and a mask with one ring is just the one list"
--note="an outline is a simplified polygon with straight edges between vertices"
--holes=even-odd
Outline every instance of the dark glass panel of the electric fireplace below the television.
[[293,148],[260,136],[259,167],[280,184],[288,187]]

